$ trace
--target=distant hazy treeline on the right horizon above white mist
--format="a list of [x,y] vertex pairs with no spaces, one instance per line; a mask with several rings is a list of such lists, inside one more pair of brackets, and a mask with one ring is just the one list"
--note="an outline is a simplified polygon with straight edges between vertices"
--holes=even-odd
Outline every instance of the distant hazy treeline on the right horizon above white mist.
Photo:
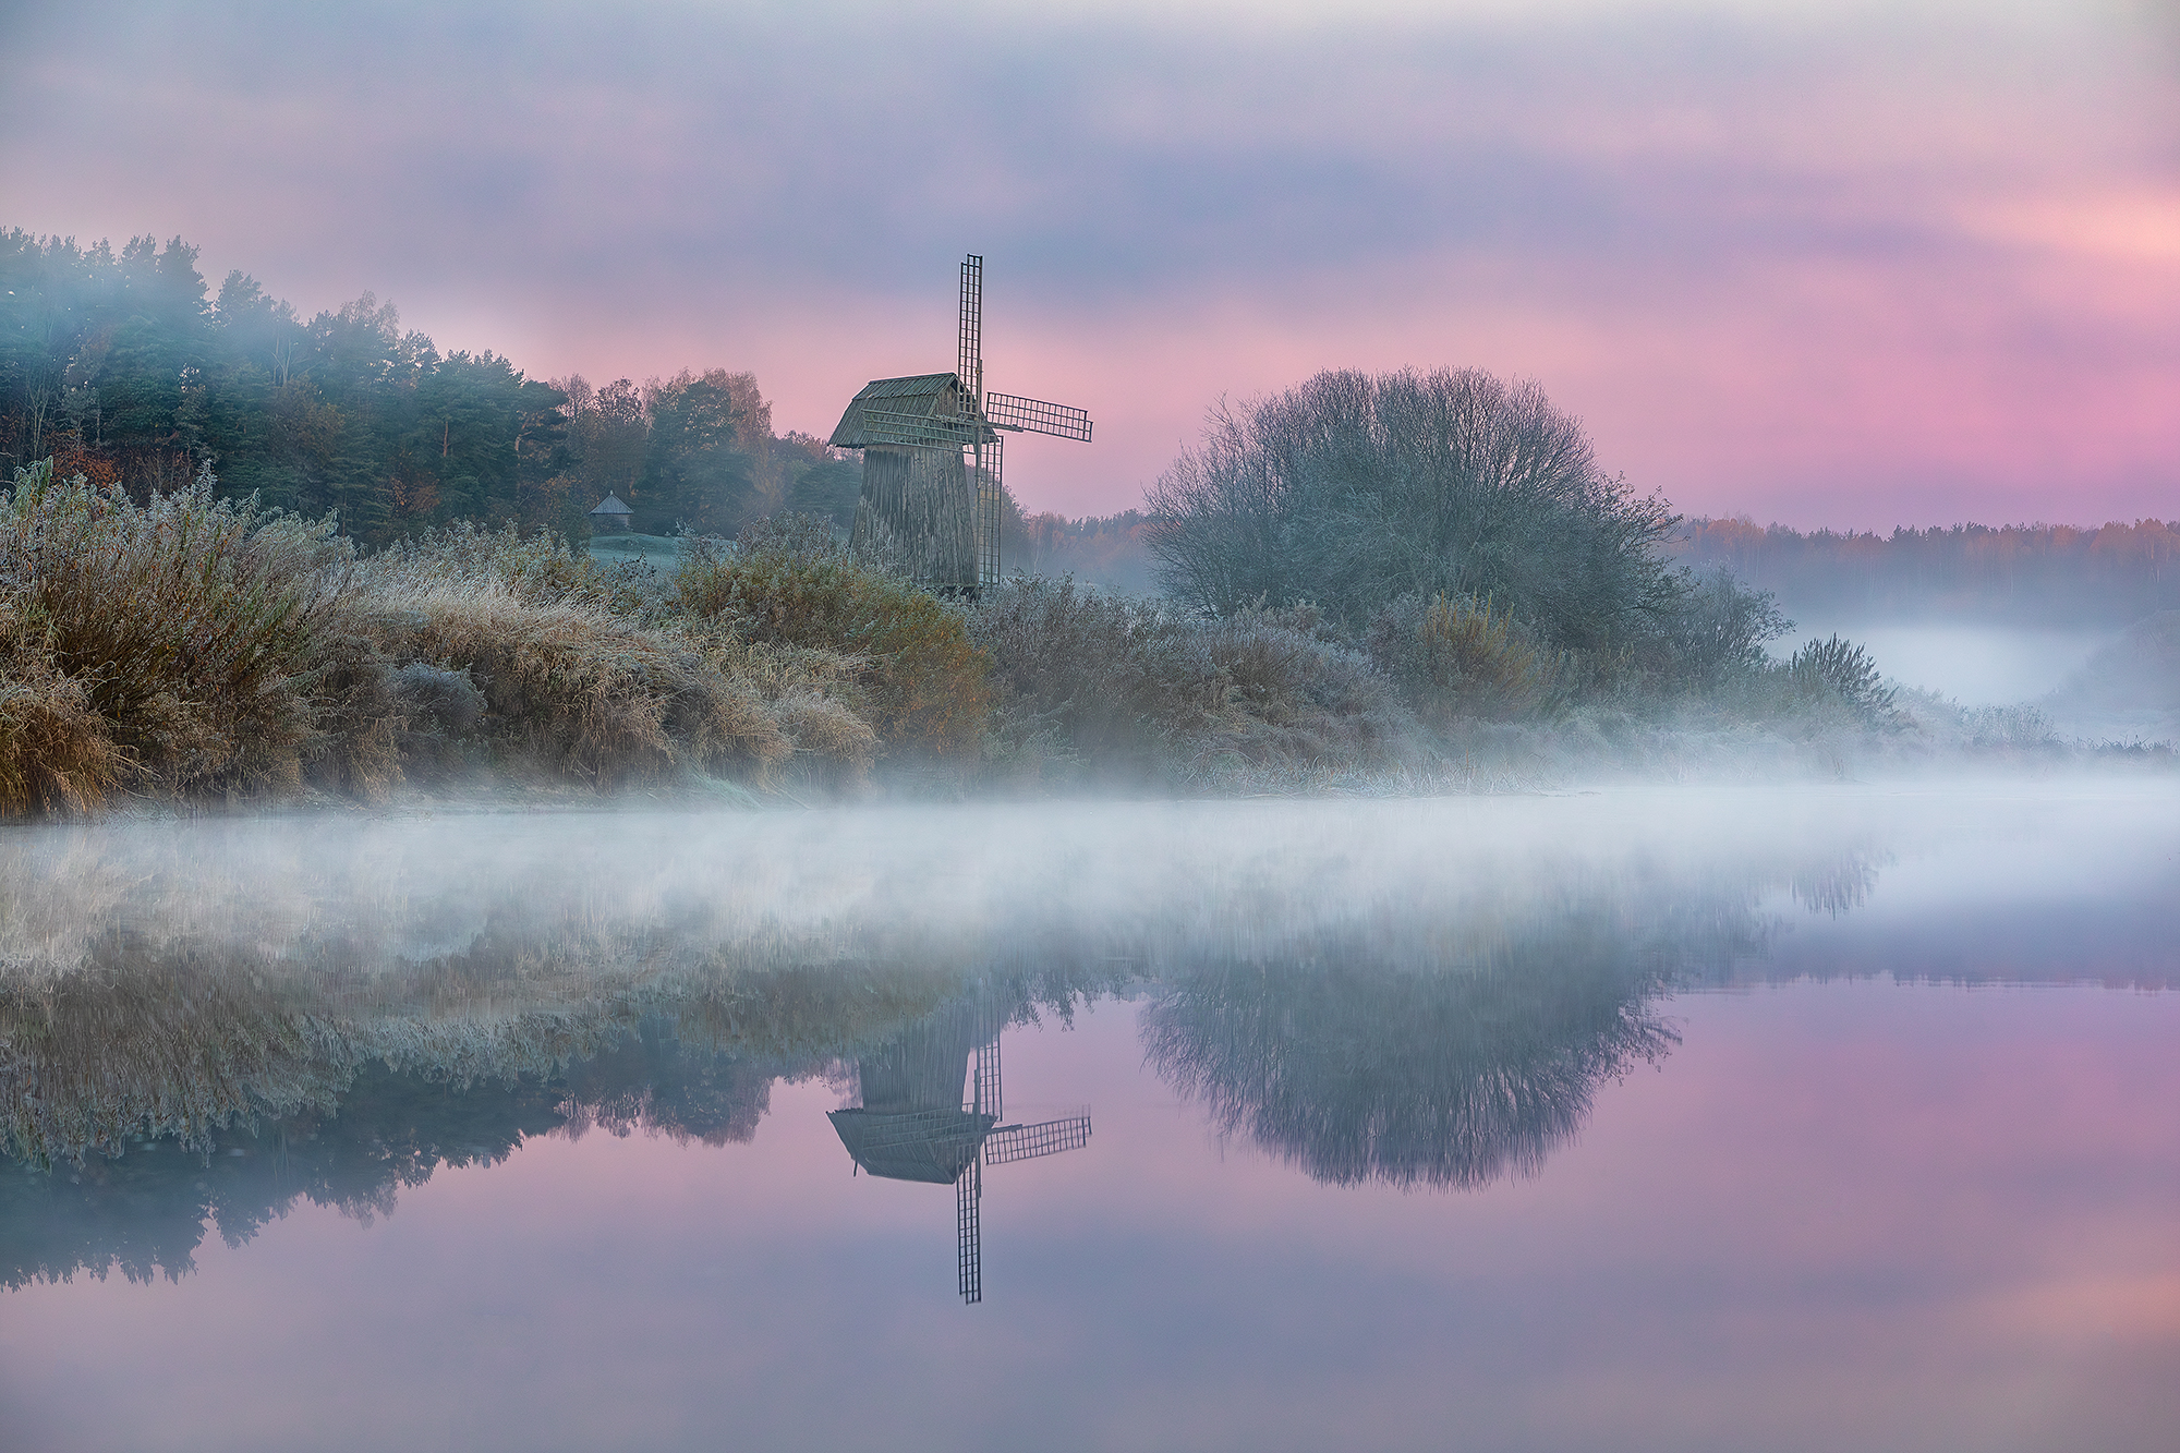
[[2110,624],[2180,607],[2180,524],[1945,526],[1890,535],[1692,519],[1672,545],[1790,615]]

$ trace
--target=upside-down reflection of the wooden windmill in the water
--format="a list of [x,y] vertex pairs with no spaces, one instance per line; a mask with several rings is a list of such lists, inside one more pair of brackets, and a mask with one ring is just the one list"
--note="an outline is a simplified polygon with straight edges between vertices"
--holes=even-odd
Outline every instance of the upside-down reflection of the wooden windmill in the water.
[[[983,1172],[1090,1143],[1090,1110],[1003,1126],[998,1032],[990,1001],[942,1010],[857,1060],[863,1104],[833,1110],[855,1163],[887,1180],[953,1182],[961,1300],[983,1300]],[[974,1067],[970,1065],[974,1056]],[[961,1097],[968,1089],[968,1100]]]

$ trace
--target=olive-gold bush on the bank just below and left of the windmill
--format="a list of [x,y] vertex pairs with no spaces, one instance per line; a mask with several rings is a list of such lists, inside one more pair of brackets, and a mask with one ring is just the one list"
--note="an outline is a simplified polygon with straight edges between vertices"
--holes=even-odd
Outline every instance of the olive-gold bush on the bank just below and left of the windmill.
[[940,761],[977,755],[990,663],[961,611],[852,559],[824,521],[763,521],[735,545],[698,541],[665,609],[737,641],[857,657],[870,724],[889,748]]

